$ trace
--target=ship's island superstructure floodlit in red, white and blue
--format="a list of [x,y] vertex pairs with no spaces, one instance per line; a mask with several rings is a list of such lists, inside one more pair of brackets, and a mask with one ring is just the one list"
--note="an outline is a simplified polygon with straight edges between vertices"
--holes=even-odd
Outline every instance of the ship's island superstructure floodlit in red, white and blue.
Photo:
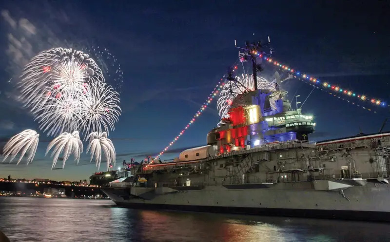
[[217,146],[219,153],[224,153],[273,142],[308,140],[315,127],[313,115],[292,110],[284,98],[286,93],[255,90],[238,95],[229,118],[223,119],[224,124],[207,135],[207,144]]

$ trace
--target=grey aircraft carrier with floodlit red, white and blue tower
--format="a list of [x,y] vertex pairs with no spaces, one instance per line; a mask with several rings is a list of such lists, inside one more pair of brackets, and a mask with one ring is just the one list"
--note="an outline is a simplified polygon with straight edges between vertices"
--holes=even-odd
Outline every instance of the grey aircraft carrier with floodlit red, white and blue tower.
[[102,191],[130,208],[390,221],[390,132],[310,141],[313,114],[292,109],[280,85],[257,89],[260,47],[245,48],[253,90],[236,95],[205,146],[148,157]]

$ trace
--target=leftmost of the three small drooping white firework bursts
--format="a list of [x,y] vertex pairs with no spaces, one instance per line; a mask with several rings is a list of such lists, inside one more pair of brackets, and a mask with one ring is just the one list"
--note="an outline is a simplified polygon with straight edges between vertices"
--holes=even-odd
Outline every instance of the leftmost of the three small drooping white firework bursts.
[[13,136],[4,146],[3,154],[4,162],[9,155],[11,156],[10,163],[15,159],[16,155],[20,152],[20,158],[17,165],[20,163],[23,156],[27,153],[27,165],[34,159],[35,152],[37,151],[39,142],[39,134],[34,130],[24,130],[17,135]]

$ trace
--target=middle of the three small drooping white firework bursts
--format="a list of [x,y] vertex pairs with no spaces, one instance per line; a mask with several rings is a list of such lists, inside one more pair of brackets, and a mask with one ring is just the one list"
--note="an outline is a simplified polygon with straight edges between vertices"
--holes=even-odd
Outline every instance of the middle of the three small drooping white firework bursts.
[[72,153],[75,158],[75,162],[78,164],[80,160],[80,153],[82,153],[83,150],[82,142],[78,135],[78,131],[74,131],[72,133],[61,133],[57,138],[55,138],[52,142],[49,143],[45,155],[47,155],[47,153],[53,147],[55,148],[51,154],[51,157],[53,157],[52,169],[56,166],[57,161],[59,159],[59,154],[62,151],[62,169],[65,167],[65,162]]

